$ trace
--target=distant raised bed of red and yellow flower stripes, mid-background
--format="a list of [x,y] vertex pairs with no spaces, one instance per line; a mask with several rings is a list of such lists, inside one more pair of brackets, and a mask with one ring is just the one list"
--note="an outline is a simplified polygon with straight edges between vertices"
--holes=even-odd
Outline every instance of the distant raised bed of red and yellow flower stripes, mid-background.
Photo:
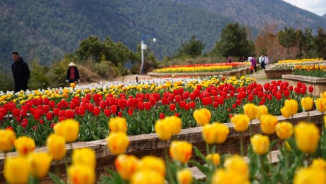
[[172,65],[156,69],[153,73],[226,72],[247,66],[250,66],[249,62]]

